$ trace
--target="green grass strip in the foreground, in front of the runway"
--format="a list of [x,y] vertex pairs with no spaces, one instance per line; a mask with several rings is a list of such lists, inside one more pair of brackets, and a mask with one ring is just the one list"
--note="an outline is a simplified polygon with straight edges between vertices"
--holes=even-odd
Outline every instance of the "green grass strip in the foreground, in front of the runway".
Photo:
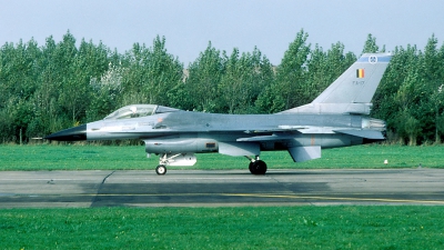
[[443,211],[442,207],[13,209],[0,210],[0,244],[1,249],[443,249]]

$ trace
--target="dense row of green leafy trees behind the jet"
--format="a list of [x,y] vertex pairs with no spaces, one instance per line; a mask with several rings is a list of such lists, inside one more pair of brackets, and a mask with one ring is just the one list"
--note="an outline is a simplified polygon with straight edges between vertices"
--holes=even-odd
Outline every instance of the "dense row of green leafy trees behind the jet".
[[[311,102],[360,56],[344,44],[324,50],[296,33],[279,66],[258,48],[220,51],[211,42],[184,67],[165,38],[119,53],[68,31],[41,47],[7,42],[0,49],[0,142],[28,141],[102,119],[132,103],[219,113],[273,113]],[[385,52],[369,34],[362,52]],[[396,47],[373,98],[372,117],[387,121],[391,141],[441,143],[444,137],[444,44]]]

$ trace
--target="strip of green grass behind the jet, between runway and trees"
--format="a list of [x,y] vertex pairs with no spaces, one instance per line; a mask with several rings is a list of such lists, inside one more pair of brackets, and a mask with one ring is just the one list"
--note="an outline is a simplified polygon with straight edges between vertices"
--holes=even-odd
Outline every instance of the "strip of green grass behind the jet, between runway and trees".
[[[196,154],[191,169],[246,169],[243,157]],[[322,158],[294,163],[286,151],[261,154],[270,169],[427,168],[444,167],[444,147],[357,146],[327,149]],[[389,160],[389,164],[384,164]],[[154,169],[159,157],[147,159],[144,147],[117,146],[0,146],[0,170],[141,170]],[[174,167],[170,167],[174,168]]]

